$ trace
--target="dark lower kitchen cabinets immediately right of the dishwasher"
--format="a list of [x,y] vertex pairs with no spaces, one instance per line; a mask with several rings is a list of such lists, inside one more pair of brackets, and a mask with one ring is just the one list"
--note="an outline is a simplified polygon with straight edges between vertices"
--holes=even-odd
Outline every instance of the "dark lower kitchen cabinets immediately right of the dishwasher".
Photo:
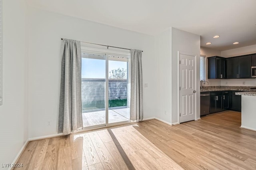
[[210,92],[210,113],[217,113],[230,109],[230,92]]

